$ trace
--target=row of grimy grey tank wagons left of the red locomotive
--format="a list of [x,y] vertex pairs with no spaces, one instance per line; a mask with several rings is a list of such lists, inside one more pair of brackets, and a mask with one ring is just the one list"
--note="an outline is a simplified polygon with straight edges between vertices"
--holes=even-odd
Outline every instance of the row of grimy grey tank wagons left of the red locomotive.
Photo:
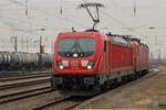
[[49,53],[0,52],[0,70],[51,68],[53,55]]

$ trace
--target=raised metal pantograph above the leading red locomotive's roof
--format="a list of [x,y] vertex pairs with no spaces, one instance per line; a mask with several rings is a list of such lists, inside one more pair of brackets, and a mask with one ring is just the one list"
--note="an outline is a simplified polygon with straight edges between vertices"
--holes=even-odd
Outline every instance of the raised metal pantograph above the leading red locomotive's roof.
[[[94,18],[93,15],[92,15],[92,12],[90,11],[90,7],[94,7],[94,8],[96,8],[95,10],[96,10],[96,18]],[[98,12],[98,8],[102,8],[102,7],[104,7],[104,4],[101,4],[101,3],[82,3],[82,4],[80,4],[79,6],[79,8],[81,9],[81,8],[85,8],[86,9],[86,11],[89,12],[89,14],[90,14],[90,16],[91,16],[91,19],[93,20],[93,22],[94,22],[94,24],[93,24],[93,30],[94,30],[94,28],[96,26],[96,24],[100,22],[100,12]]]

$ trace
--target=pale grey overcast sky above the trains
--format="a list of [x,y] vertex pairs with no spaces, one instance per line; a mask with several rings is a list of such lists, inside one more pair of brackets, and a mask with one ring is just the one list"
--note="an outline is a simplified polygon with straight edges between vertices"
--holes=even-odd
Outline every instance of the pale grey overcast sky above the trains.
[[92,28],[87,12],[76,9],[83,2],[105,6],[97,25],[102,32],[132,34],[147,43],[153,53],[162,47],[162,54],[166,54],[166,0],[0,0],[0,50],[13,51],[11,36],[18,36],[19,51],[38,52],[41,35],[45,51],[51,52],[59,32],[71,31],[72,26],[76,31]]

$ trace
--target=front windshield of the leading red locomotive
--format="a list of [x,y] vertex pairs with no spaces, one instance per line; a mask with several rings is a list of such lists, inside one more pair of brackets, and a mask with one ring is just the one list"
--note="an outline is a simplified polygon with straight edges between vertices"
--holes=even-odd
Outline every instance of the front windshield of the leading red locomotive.
[[94,54],[94,37],[65,37],[60,40],[58,53],[63,57],[87,57]]

